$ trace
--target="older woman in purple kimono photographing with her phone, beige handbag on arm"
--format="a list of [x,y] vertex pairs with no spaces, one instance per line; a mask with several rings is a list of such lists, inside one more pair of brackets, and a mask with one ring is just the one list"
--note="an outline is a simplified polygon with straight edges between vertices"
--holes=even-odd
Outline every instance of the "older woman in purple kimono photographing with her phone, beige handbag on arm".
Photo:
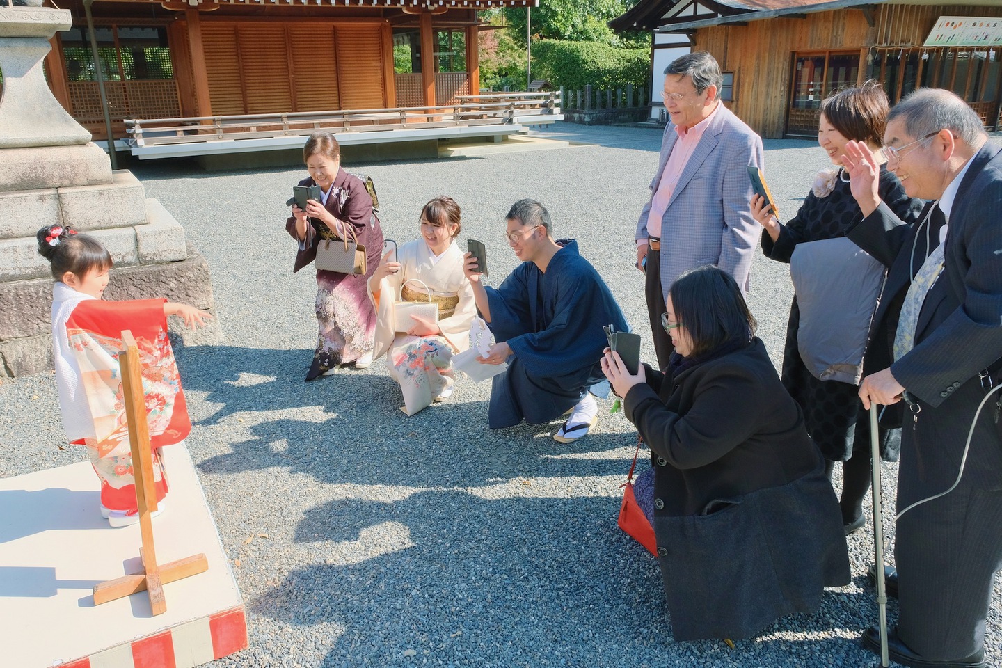
[[307,381],[333,374],[339,365],[365,369],[373,361],[376,312],[366,283],[379,264],[383,229],[373,212],[365,183],[341,167],[341,148],[330,132],[314,132],[303,148],[310,177],[300,185],[319,185],[321,200],[309,200],[306,209],[293,204],[286,229],[299,241],[293,271],[317,258],[322,239],[343,239],[354,228],[366,247],[364,274],[317,270],[317,321],[320,336]]

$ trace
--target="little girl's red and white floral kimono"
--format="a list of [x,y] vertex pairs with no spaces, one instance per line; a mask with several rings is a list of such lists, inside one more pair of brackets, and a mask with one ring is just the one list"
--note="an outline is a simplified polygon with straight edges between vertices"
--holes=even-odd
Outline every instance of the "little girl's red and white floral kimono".
[[62,282],[52,290],[52,346],[63,429],[84,444],[101,481],[101,505],[135,511],[135,479],[122,402],[121,332],[135,338],[142,368],[157,501],[167,492],[159,448],[191,431],[180,376],[167,340],[164,299],[104,301]]

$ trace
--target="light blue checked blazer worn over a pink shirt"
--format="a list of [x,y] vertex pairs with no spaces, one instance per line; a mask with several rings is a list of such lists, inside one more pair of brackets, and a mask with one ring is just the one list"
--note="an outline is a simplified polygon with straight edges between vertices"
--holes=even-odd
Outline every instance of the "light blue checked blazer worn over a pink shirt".
[[[664,294],[682,271],[715,264],[748,289],[752,257],[762,227],[752,217],[747,166],[764,165],[762,138],[720,102],[699,139],[661,219],[661,288]],[[647,215],[668,155],[678,140],[674,123],[661,138],[650,198],[640,212],[634,238],[647,236]]]

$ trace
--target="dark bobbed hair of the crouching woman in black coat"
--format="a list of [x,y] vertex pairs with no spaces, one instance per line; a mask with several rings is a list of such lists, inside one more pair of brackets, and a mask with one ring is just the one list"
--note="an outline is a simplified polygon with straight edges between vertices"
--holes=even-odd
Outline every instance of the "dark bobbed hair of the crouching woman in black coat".
[[756,322],[730,274],[711,264],[682,273],[668,290],[675,320],[692,340],[689,357],[705,355],[733,339],[750,341]]

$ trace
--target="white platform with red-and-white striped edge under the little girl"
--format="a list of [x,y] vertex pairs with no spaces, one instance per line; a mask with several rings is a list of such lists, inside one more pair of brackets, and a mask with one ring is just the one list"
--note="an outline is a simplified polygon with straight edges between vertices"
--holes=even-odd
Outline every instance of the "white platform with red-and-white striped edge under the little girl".
[[191,458],[183,444],[163,456],[157,563],[204,553],[208,570],[164,585],[155,617],[145,592],[94,606],[94,585],[142,568],[139,526],[100,517],[89,463],[0,480],[0,664],[191,668],[246,648],[243,601]]

